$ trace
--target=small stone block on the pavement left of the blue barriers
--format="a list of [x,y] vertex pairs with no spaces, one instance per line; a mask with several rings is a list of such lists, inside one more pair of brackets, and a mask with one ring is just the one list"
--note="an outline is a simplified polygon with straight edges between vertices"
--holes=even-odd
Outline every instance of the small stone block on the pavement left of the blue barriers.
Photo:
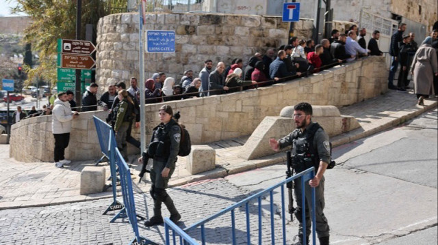
[[103,192],[105,187],[104,167],[84,167],[81,171],[80,194]]

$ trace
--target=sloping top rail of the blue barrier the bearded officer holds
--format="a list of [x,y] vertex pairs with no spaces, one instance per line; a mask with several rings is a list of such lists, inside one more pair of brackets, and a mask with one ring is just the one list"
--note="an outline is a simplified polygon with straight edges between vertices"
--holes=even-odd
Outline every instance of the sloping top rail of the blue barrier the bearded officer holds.
[[196,228],[196,227],[198,227],[200,225],[205,224],[206,222],[214,220],[214,218],[217,218],[218,216],[221,216],[222,214],[225,214],[225,213],[229,212],[230,210],[234,210],[236,207],[240,207],[240,206],[244,205],[245,203],[248,203],[249,201],[251,201],[251,199],[255,199],[257,197],[261,197],[263,194],[266,194],[266,192],[270,192],[270,191],[274,190],[275,188],[279,188],[280,186],[283,186],[284,184],[287,184],[287,183],[291,182],[292,180],[297,179],[298,177],[302,177],[302,176],[308,175],[314,169],[315,169],[314,167],[311,167],[309,169],[306,169],[305,171],[297,173],[296,175],[294,175],[292,177],[284,179],[283,181],[279,182],[278,184],[276,184],[274,186],[271,186],[270,188],[267,188],[265,190],[261,190],[260,192],[257,192],[256,194],[253,194],[252,196],[247,197],[246,199],[243,199],[242,201],[240,201],[238,203],[235,203],[235,204],[227,207],[224,210],[220,210],[216,214],[213,214],[213,215],[211,215],[211,216],[209,216],[207,218],[204,218],[201,221],[198,221],[198,222],[194,223],[193,225],[190,225],[189,227],[186,227],[185,229],[183,229],[183,231],[185,231],[185,232],[190,231],[190,230],[192,230],[192,229],[194,229],[194,228]]

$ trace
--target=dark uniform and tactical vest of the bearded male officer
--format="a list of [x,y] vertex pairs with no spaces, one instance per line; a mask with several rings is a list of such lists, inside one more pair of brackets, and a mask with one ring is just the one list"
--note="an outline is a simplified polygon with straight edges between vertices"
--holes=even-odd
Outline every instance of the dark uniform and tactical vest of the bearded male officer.
[[[317,128],[313,128],[317,127]],[[313,136],[309,132],[315,132]],[[311,142],[311,144],[310,144]],[[329,136],[317,123],[311,123],[306,127],[304,132],[300,129],[283,137],[279,140],[280,149],[292,145],[292,164],[296,173],[300,173],[310,167],[315,167],[315,173],[318,171],[320,161],[329,164],[330,159],[330,143]],[[301,205],[301,179],[295,179],[294,192],[297,200],[297,208],[295,216],[300,222],[298,234],[302,234],[302,205]],[[306,234],[310,235],[311,220],[309,215],[309,205],[311,203],[311,186],[309,182],[305,184],[306,196]],[[324,216],[324,177],[320,180],[320,184],[315,188],[315,218],[316,218],[316,233],[318,237],[329,237],[329,223]]]

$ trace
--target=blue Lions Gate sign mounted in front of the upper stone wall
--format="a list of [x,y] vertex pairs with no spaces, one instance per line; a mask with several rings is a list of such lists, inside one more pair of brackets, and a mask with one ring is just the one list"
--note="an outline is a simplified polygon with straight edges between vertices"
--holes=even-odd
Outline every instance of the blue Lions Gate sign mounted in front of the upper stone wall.
[[146,31],[146,52],[175,53],[175,31]]

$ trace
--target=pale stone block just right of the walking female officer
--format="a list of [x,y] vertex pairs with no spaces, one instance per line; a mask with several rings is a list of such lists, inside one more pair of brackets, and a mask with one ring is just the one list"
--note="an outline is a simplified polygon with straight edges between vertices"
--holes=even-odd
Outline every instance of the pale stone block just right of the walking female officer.
[[192,175],[215,169],[216,150],[208,145],[192,145],[192,152],[187,157],[186,169]]

